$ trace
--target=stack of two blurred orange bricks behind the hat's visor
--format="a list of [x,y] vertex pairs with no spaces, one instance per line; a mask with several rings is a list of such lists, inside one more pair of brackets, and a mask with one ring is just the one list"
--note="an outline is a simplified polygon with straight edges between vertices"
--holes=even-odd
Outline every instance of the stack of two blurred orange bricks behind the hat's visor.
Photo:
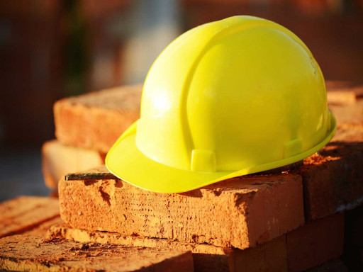
[[96,91],[54,105],[57,140],[42,148],[43,174],[50,188],[67,173],[104,164],[113,142],[140,116],[142,86]]

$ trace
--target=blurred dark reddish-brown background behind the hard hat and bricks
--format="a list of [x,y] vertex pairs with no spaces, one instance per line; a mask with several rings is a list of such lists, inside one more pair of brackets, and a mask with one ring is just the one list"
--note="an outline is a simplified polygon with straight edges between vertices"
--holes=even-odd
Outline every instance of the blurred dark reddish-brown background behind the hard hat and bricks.
[[1,0],[0,201],[49,194],[40,147],[55,101],[143,82],[184,31],[246,14],[296,33],[325,79],[362,81],[363,0]]

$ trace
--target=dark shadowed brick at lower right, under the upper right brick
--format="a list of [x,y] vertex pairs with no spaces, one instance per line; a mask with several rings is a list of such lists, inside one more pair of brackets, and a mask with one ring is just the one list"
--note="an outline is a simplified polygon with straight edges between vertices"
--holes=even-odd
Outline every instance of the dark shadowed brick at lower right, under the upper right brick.
[[344,215],[333,215],[286,234],[289,271],[304,271],[339,257],[343,251]]

